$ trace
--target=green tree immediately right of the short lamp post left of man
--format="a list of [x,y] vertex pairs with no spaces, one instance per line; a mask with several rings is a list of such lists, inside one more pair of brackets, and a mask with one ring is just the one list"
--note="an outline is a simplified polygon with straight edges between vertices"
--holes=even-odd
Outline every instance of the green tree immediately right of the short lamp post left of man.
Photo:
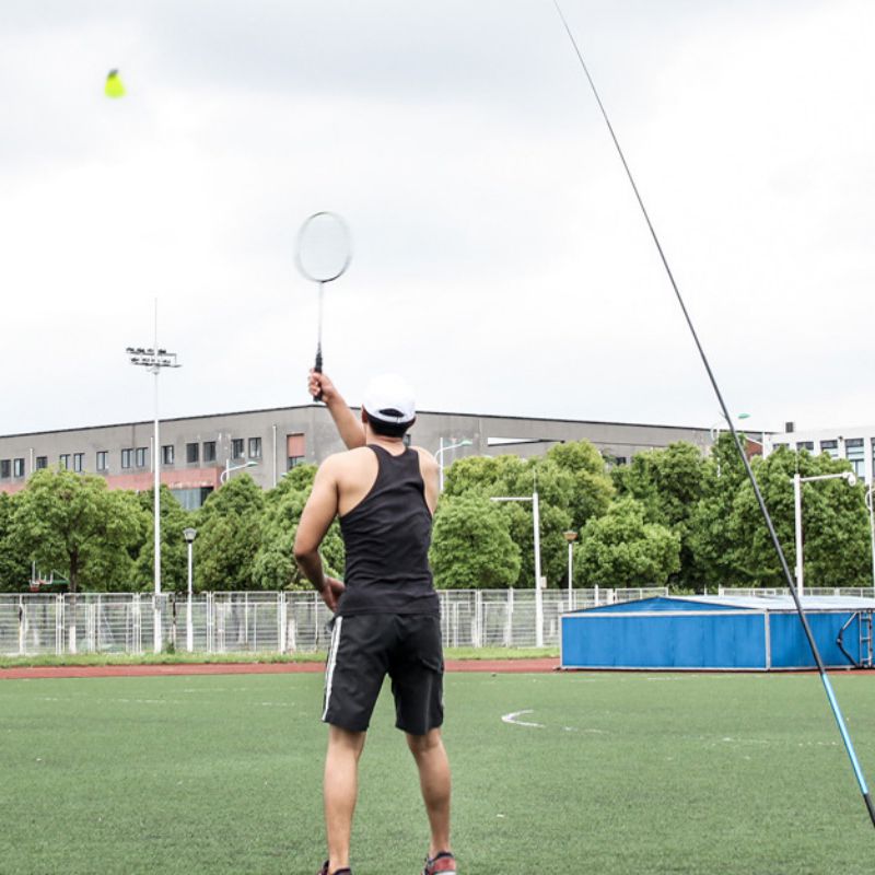
[[195,540],[200,590],[249,590],[261,545],[265,493],[248,474],[213,492],[198,517]]

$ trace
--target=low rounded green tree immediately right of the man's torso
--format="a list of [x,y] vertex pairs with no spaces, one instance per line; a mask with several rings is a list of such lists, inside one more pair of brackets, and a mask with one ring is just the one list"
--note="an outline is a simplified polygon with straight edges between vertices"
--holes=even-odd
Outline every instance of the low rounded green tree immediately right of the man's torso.
[[478,494],[441,500],[430,560],[435,585],[444,590],[502,590],[520,576],[520,548],[503,514]]

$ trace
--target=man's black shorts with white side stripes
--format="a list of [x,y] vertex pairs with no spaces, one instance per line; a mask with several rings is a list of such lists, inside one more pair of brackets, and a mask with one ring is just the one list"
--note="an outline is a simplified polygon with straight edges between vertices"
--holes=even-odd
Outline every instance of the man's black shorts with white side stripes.
[[364,732],[388,675],[399,730],[425,735],[443,723],[444,660],[439,617],[353,614],[335,617],[332,623],[323,721]]

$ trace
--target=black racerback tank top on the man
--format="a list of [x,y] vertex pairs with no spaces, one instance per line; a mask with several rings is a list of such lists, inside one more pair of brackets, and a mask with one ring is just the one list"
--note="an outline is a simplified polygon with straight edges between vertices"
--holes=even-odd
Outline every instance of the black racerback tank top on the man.
[[416,450],[377,460],[371,491],[340,517],[347,548],[346,592],[337,615],[440,614],[429,568],[431,512]]

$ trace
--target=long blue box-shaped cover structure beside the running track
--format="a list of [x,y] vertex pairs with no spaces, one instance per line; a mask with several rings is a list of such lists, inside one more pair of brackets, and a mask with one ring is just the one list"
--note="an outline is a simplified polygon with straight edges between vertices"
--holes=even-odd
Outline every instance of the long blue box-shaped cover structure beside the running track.
[[[805,596],[803,608],[827,667],[872,663],[875,599]],[[561,623],[562,668],[816,667],[790,596],[658,596],[572,611]]]

